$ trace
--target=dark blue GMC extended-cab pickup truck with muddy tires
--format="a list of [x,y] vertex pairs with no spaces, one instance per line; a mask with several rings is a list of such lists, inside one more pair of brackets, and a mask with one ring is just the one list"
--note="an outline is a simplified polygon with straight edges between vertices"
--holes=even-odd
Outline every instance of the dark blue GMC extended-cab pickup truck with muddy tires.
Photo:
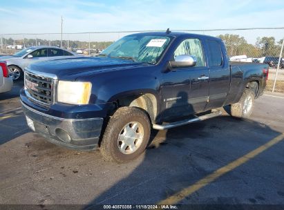
[[24,76],[21,104],[33,131],[125,162],[146,149],[152,128],[216,117],[223,106],[249,117],[268,65],[230,64],[221,39],[167,31],[123,37],[97,57],[31,64]]

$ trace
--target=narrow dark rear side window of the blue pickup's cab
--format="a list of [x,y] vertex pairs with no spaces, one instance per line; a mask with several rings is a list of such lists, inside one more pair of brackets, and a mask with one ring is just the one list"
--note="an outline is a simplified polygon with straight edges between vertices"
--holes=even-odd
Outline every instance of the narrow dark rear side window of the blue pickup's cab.
[[220,44],[217,41],[208,40],[210,66],[222,66],[223,55]]

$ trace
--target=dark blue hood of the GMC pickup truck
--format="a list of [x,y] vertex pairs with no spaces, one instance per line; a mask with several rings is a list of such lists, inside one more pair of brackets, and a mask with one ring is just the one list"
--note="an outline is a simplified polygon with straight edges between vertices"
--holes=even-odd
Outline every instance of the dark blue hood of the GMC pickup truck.
[[105,70],[118,70],[120,68],[133,68],[144,65],[127,59],[110,57],[78,57],[40,61],[28,66],[28,70],[39,73],[57,75],[58,79],[75,80],[77,77],[98,73]]

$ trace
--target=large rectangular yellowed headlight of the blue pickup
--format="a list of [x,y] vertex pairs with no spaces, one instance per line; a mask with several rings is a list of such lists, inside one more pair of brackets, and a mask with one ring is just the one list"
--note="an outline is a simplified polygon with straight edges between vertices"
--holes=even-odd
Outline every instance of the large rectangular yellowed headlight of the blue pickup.
[[88,104],[91,95],[90,82],[59,81],[57,86],[57,102],[66,104]]

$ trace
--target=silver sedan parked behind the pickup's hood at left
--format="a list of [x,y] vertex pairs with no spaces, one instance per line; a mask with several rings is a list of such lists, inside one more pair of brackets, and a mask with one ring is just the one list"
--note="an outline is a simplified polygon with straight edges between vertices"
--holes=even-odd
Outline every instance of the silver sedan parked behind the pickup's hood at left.
[[14,80],[22,79],[23,68],[35,61],[79,57],[76,53],[54,46],[34,46],[23,49],[14,55],[2,56],[0,61],[7,61],[10,76]]

